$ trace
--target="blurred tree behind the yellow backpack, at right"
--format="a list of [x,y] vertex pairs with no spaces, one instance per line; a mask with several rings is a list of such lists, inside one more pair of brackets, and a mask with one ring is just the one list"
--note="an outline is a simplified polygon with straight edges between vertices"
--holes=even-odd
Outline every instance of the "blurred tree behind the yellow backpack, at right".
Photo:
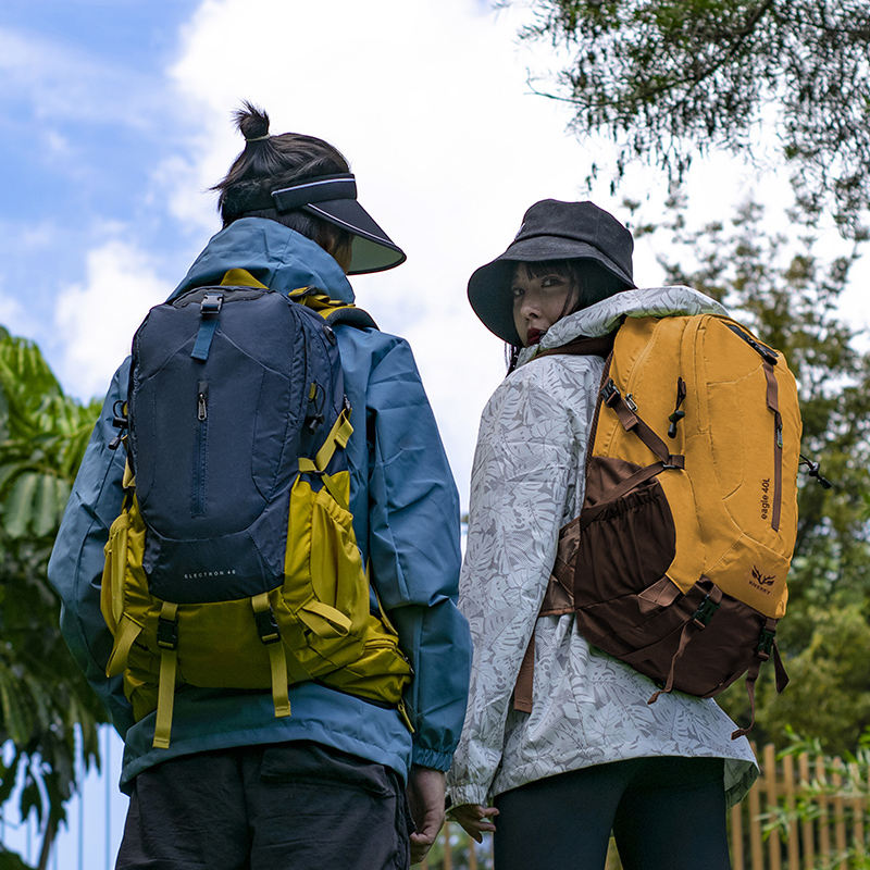
[[[870,353],[838,303],[861,244],[821,256],[815,215],[799,209],[785,235],[769,228],[755,202],[698,229],[687,227],[682,198],[669,206],[664,222],[635,235],[669,237],[669,254],[659,258],[669,283],[720,299],[784,351],[801,399],[803,452],[834,483],[823,489],[801,475],[788,609],[778,630],[792,682],[776,695],[771,673],[759,680],[753,737],[782,745],[791,725],[828,751],[854,750],[870,725]],[[747,721],[742,680],[720,701]]]

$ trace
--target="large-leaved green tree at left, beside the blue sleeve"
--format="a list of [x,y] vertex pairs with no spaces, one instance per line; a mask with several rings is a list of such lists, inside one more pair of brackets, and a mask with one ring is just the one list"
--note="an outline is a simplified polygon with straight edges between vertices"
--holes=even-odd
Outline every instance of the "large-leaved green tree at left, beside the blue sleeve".
[[[0,804],[18,786],[47,866],[77,759],[99,763],[105,716],[60,634],[46,569],[99,403],[63,394],[39,350],[0,327]],[[78,746],[78,748],[77,748]],[[2,846],[0,846],[0,849]],[[0,850],[0,870],[26,867]]]

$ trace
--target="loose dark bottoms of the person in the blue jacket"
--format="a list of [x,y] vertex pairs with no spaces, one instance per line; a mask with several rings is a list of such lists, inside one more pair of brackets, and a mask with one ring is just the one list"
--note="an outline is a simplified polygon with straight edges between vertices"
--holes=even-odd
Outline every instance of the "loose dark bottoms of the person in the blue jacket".
[[406,870],[401,780],[315,743],[244,746],[140,773],[117,870]]

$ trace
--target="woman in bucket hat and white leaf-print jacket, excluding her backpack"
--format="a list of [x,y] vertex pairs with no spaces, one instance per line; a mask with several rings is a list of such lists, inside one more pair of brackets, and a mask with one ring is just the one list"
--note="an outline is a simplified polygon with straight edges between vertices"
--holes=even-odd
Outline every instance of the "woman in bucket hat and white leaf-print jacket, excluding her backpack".
[[[687,287],[636,289],[632,250],[631,233],[592,202],[545,200],[469,283],[475,312],[512,353],[472,471],[459,604],[474,659],[448,794],[477,841],[497,826],[497,870],[598,870],[611,830],[625,870],[723,870],[725,809],[758,775],[716,701],[673,692],[650,705],[651,681],[591,646],[573,613],[538,616],[559,530],[584,501],[604,360],[536,355],[625,316],[724,311]],[[513,693],[530,638],[524,712]]]

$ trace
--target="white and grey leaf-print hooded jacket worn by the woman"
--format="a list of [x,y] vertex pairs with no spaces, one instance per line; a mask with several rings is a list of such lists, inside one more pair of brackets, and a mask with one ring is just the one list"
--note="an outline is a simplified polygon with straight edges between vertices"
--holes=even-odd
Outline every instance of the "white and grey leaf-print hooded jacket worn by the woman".
[[[543,348],[605,335],[619,318],[724,313],[688,287],[627,290],[556,323]],[[572,614],[536,620],[559,529],[580,514],[583,470],[604,369],[598,357],[550,356],[519,368],[481,418],[459,606],[474,642],[465,724],[448,774],[452,805],[592,765],[648,756],[725,759],[729,805],[758,775],[745,737],[714,700],[674,692],[648,705],[650,680],[591,647]],[[511,693],[533,626],[534,706]]]

